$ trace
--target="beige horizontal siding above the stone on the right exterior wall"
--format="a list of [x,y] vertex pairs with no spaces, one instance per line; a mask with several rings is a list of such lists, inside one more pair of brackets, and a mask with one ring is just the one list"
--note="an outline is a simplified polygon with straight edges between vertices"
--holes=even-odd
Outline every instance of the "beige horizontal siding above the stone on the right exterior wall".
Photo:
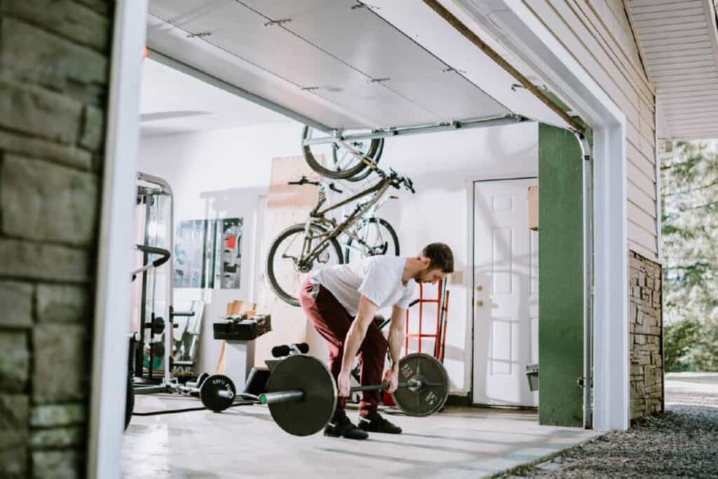
[[656,96],[623,0],[523,0],[626,116],[628,247],[656,259]]

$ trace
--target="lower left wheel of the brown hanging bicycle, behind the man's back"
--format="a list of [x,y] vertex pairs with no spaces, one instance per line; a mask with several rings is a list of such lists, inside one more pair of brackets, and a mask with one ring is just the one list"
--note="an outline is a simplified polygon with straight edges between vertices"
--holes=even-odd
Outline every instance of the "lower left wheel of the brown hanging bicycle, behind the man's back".
[[[279,299],[292,306],[299,306],[297,291],[305,274],[342,264],[342,248],[336,239],[329,241],[312,264],[298,264],[304,246],[304,229],[304,223],[300,223],[279,233],[272,241],[266,259],[269,286]],[[327,238],[327,230],[319,225],[311,225],[309,234],[309,250]]]

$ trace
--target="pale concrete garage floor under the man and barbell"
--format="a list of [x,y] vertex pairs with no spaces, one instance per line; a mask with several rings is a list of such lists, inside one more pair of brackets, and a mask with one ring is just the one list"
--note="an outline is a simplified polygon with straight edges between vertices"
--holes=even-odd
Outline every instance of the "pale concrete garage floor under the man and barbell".
[[[199,401],[138,396],[135,411]],[[358,414],[349,411],[350,417]],[[538,425],[535,411],[447,408],[432,417],[393,414],[404,434],[365,441],[293,437],[264,406],[132,418],[127,478],[481,478],[586,442],[599,432]]]

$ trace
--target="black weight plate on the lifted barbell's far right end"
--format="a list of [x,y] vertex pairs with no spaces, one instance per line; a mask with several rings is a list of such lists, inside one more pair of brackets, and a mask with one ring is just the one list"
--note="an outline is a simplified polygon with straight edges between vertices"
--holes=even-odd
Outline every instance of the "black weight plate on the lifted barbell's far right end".
[[399,381],[419,379],[418,391],[398,388],[391,394],[396,405],[409,416],[430,416],[442,409],[449,397],[449,375],[442,363],[424,353],[411,353],[399,361]]

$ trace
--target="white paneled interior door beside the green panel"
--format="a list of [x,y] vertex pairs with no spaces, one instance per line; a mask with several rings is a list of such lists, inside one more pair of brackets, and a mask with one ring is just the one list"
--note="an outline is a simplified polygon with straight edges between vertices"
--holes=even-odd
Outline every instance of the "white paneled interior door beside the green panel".
[[538,232],[528,187],[538,178],[474,183],[475,404],[538,406],[526,365],[538,363]]

